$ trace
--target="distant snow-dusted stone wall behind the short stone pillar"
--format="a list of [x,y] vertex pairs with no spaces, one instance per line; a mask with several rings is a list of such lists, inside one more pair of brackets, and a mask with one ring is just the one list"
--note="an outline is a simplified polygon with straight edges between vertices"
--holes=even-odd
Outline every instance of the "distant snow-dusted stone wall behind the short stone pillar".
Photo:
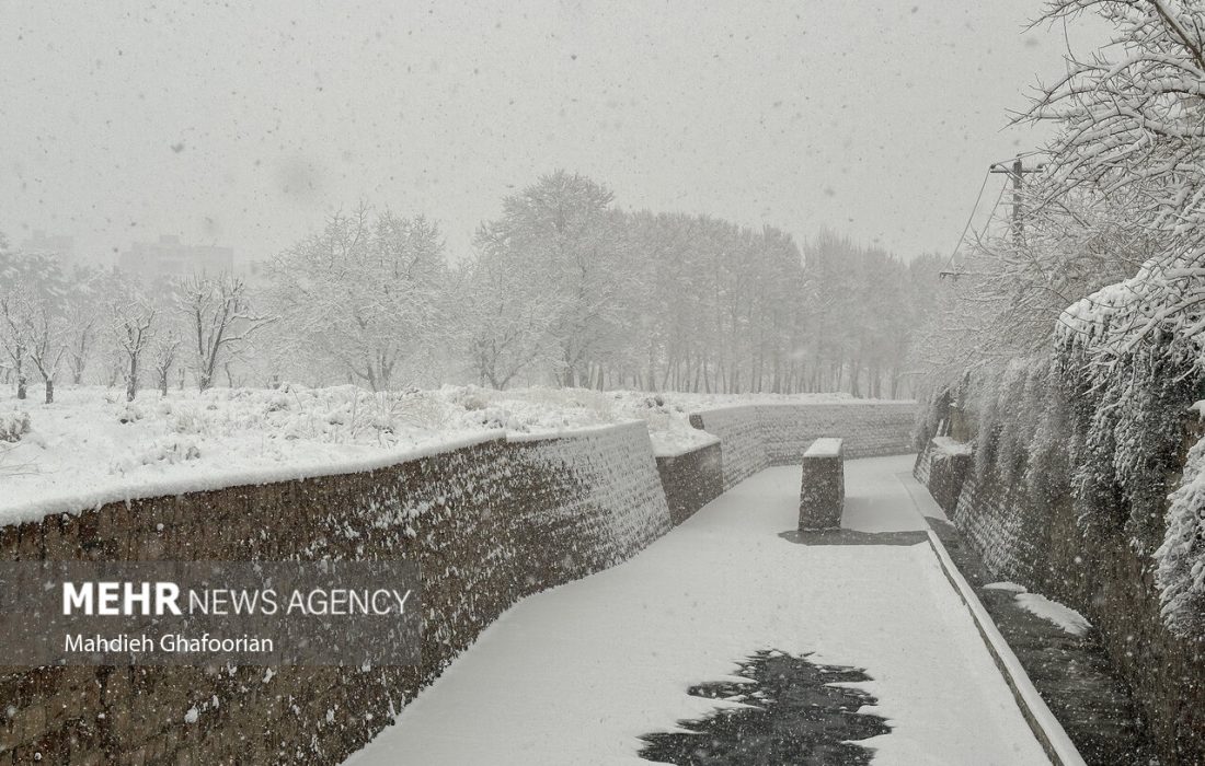
[[909,401],[745,405],[690,416],[719,437],[724,489],[771,465],[794,465],[823,436],[845,440],[846,458],[913,452],[916,403]]

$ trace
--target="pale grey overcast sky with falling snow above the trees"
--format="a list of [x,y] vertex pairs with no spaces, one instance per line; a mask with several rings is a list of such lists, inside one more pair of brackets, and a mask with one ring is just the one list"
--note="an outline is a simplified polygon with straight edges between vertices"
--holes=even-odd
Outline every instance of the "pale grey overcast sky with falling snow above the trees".
[[948,253],[986,166],[1040,140],[1003,130],[1062,71],[1039,10],[0,0],[0,230],[259,259],[364,198],[458,257],[564,167],[623,207]]

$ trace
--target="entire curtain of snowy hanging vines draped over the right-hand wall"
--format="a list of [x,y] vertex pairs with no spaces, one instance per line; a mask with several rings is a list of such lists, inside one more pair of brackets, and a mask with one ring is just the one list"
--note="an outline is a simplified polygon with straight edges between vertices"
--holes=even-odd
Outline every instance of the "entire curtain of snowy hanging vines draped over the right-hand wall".
[[1191,452],[1170,507],[1168,491],[1205,365],[1195,342],[1171,332],[1118,344],[1112,328],[1129,326],[1134,308],[1101,293],[1068,310],[1051,357],[971,376],[962,399],[978,430],[975,476],[1007,493],[1035,544],[1057,503],[1070,502],[1084,549],[1116,540],[1151,562],[1168,626],[1200,635],[1205,443]]

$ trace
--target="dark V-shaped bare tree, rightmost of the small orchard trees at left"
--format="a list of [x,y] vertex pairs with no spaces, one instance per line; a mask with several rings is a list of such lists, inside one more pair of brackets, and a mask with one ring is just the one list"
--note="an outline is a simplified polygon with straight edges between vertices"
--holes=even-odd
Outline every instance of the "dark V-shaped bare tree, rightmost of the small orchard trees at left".
[[176,285],[176,304],[193,336],[196,385],[213,385],[219,363],[275,317],[252,310],[246,283],[229,275],[193,276]]

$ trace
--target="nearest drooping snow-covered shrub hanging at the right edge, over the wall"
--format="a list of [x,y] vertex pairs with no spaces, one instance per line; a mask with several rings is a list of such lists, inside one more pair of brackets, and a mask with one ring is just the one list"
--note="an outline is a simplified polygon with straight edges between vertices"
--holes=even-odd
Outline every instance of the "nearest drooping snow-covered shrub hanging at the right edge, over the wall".
[[1081,466],[1075,494],[1084,519],[1101,507],[1127,511],[1117,520],[1136,553],[1153,555],[1164,623],[1192,636],[1205,629],[1205,446],[1189,450],[1178,488],[1165,493],[1180,469],[1183,422],[1205,382],[1205,357],[1199,334],[1159,324],[1142,283],[1153,276],[1144,266],[1135,279],[1064,313],[1063,377],[1080,379],[1068,388],[1071,459]]

